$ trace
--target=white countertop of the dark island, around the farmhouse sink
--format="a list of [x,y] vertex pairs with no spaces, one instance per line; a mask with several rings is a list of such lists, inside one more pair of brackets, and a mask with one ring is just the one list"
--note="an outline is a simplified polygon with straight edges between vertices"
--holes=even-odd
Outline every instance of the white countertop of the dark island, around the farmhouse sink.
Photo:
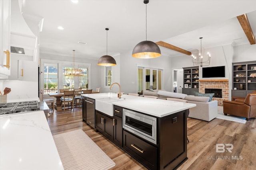
[[[103,98],[118,99],[116,93],[82,94],[82,96],[87,96],[95,100]],[[140,111],[142,113],[156,117],[164,117],[173,113],[177,113],[178,111],[196,107],[196,104],[191,103],[145,98],[126,94],[123,94],[118,102],[113,102],[112,104],[135,111]]]

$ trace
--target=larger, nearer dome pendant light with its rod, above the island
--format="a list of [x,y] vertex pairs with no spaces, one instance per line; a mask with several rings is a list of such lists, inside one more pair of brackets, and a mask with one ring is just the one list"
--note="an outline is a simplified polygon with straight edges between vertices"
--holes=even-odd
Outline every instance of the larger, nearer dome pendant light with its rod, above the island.
[[146,41],[142,41],[138,43],[133,51],[132,57],[140,58],[140,59],[151,59],[161,56],[161,51],[158,45],[152,41],[147,41],[147,4],[149,0],[144,0],[144,4],[146,4]]

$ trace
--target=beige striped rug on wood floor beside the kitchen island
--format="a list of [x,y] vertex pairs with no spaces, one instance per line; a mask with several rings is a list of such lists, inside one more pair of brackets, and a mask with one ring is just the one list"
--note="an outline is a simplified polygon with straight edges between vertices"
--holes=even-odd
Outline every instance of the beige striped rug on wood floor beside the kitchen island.
[[53,135],[64,170],[108,170],[116,166],[82,131]]

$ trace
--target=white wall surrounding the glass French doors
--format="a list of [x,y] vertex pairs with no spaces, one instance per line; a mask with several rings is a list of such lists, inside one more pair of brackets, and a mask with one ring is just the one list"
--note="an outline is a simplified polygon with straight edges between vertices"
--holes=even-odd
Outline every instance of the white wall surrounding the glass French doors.
[[[137,70],[136,64],[150,68],[162,68],[163,87],[167,91],[171,90],[171,66],[170,57],[162,55],[155,59],[137,59],[132,57],[132,51],[120,54],[120,85],[121,91],[127,93],[137,93]],[[133,84],[134,82],[134,84]]]

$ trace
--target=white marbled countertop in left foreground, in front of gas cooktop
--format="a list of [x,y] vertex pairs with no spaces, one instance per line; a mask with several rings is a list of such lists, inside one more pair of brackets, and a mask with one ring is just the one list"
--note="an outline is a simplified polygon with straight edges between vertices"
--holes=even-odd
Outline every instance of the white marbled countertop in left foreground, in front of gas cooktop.
[[0,117],[0,170],[64,170],[44,111]]

